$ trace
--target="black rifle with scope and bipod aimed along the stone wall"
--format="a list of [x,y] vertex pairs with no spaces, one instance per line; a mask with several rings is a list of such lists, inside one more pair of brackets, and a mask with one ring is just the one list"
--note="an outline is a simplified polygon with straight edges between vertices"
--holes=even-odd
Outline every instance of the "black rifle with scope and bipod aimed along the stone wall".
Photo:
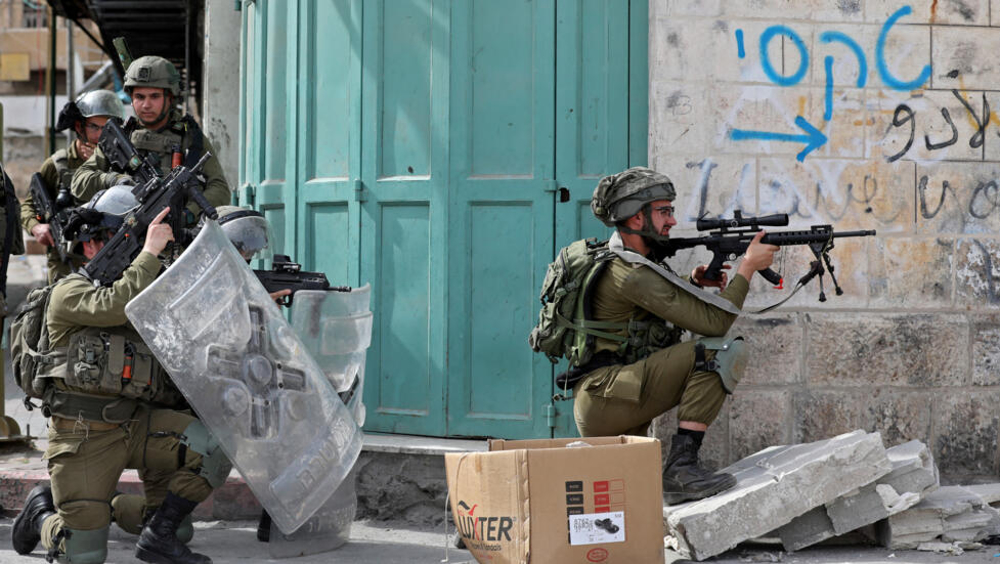
[[[788,214],[774,214],[763,217],[743,217],[741,210],[736,210],[732,218],[699,219],[697,222],[698,231],[712,231],[712,233],[702,237],[673,238],[665,244],[662,251],[663,256],[672,257],[680,249],[704,246],[712,252],[712,261],[705,270],[705,279],[719,280],[722,277],[722,265],[728,261],[735,260],[746,252],[750,242],[761,230],[761,226],[782,226],[788,225]],[[761,243],[787,247],[791,245],[808,245],[816,260],[810,263],[810,270],[796,284],[795,291],[809,283],[810,280],[819,276],[819,301],[826,301],[826,294],[823,291],[823,274],[829,273],[830,279],[838,296],[844,291],[840,288],[836,276],[833,274],[833,263],[830,260],[830,249],[833,249],[835,239],[843,237],[872,237],[875,235],[874,229],[862,231],[834,231],[832,225],[813,225],[808,230],[800,231],[771,231],[761,238]],[[825,268],[824,268],[825,266]],[[781,275],[765,268],[758,271],[761,276],[775,285],[782,282]],[[794,293],[794,292],[793,292]],[[789,296],[790,297],[790,296]]]

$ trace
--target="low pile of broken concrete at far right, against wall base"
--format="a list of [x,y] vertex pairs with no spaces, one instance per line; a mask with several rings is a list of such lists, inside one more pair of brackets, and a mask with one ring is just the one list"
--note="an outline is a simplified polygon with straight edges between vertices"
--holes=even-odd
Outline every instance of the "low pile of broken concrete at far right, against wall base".
[[962,486],[947,486],[879,522],[876,534],[881,544],[893,549],[938,541],[974,543],[1000,534],[1000,512]]

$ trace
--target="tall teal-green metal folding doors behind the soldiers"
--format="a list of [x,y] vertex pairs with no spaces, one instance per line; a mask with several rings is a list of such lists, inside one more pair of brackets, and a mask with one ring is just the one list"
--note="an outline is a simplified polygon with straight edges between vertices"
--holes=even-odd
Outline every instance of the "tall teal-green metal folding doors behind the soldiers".
[[605,233],[596,180],[645,160],[645,25],[643,0],[244,3],[240,201],[373,284],[367,430],[572,432],[527,333],[556,249]]

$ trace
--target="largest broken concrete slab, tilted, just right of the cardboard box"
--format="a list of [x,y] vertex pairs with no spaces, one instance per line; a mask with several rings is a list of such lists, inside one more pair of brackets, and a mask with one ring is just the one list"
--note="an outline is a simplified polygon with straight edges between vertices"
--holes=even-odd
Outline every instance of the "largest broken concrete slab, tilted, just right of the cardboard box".
[[723,470],[737,484],[721,494],[663,508],[682,557],[702,560],[762,536],[892,470],[878,433],[854,431],[814,443],[771,447]]

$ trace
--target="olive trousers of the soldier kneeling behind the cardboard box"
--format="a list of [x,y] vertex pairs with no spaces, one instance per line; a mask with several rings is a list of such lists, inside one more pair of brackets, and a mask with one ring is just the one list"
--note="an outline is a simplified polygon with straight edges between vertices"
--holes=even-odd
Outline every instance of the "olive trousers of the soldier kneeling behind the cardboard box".
[[[694,341],[680,343],[584,376],[573,388],[580,435],[645,435],[653,419],[677,406],[678,421],[711,424],[726,391],[717,373],[695,369],[694,346]],[[706,351],[706,359],[713,354]]]

